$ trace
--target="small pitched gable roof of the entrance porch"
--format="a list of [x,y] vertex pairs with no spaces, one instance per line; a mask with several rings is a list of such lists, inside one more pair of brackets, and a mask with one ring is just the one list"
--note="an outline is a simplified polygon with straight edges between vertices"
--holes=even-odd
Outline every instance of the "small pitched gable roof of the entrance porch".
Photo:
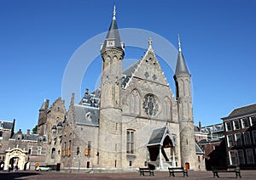
[[163,146],[164,140],[166,137],[169,137],[172,141],[172,145],[175,146],[174,139],[172,137],[172,132],[170,131],[169,127],[161,127],[154,129],[152,132],[149,141],[148,141],[148,147],[149,146]]

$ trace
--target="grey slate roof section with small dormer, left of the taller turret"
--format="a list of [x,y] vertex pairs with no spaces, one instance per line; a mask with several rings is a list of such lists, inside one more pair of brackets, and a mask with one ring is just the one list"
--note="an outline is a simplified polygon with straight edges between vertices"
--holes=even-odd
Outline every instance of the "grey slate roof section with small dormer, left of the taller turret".
[[74,104],[75,121],[80,125],[99,126],[99,109],[87,105]]

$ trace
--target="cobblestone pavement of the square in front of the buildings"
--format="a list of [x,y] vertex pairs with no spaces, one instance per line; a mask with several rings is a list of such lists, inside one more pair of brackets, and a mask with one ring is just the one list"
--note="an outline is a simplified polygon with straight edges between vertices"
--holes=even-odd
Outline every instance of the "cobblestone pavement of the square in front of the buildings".
[[[219,179],[236,179],[235,173],[219,173]],[[169,177],[169,172],[154,172],[154,177],[140,176],[139,172],[101,172],[101,173],[67,173],[67,172],[0,172],[1,180],[9,179],[213,179],[212,172],[189,172],[189,177],[178,173]],[[216,178],[218,179],[218,178]],[[241,179],[256,179],[256,171],[241,171]]]

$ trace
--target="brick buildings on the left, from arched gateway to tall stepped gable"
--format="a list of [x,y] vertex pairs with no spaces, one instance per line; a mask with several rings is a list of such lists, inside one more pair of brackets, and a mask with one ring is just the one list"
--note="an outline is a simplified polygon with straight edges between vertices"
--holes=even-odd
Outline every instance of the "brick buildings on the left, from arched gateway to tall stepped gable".
[[62,123],[66,120],[61,98],[49,107],[44,100],[39,110],[38,133],[15,132],[15,121],[0,121],[0,165],[3,170],[28,170],[38,165],[60,170]]

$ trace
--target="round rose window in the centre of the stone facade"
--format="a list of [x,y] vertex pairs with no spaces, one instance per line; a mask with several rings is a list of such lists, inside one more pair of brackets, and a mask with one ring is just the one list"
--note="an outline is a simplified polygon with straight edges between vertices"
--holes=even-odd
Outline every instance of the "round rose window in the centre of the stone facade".
[[157,115],[159,105],[153,94],[147,94],[143,100],[143,109],[147,115]]

